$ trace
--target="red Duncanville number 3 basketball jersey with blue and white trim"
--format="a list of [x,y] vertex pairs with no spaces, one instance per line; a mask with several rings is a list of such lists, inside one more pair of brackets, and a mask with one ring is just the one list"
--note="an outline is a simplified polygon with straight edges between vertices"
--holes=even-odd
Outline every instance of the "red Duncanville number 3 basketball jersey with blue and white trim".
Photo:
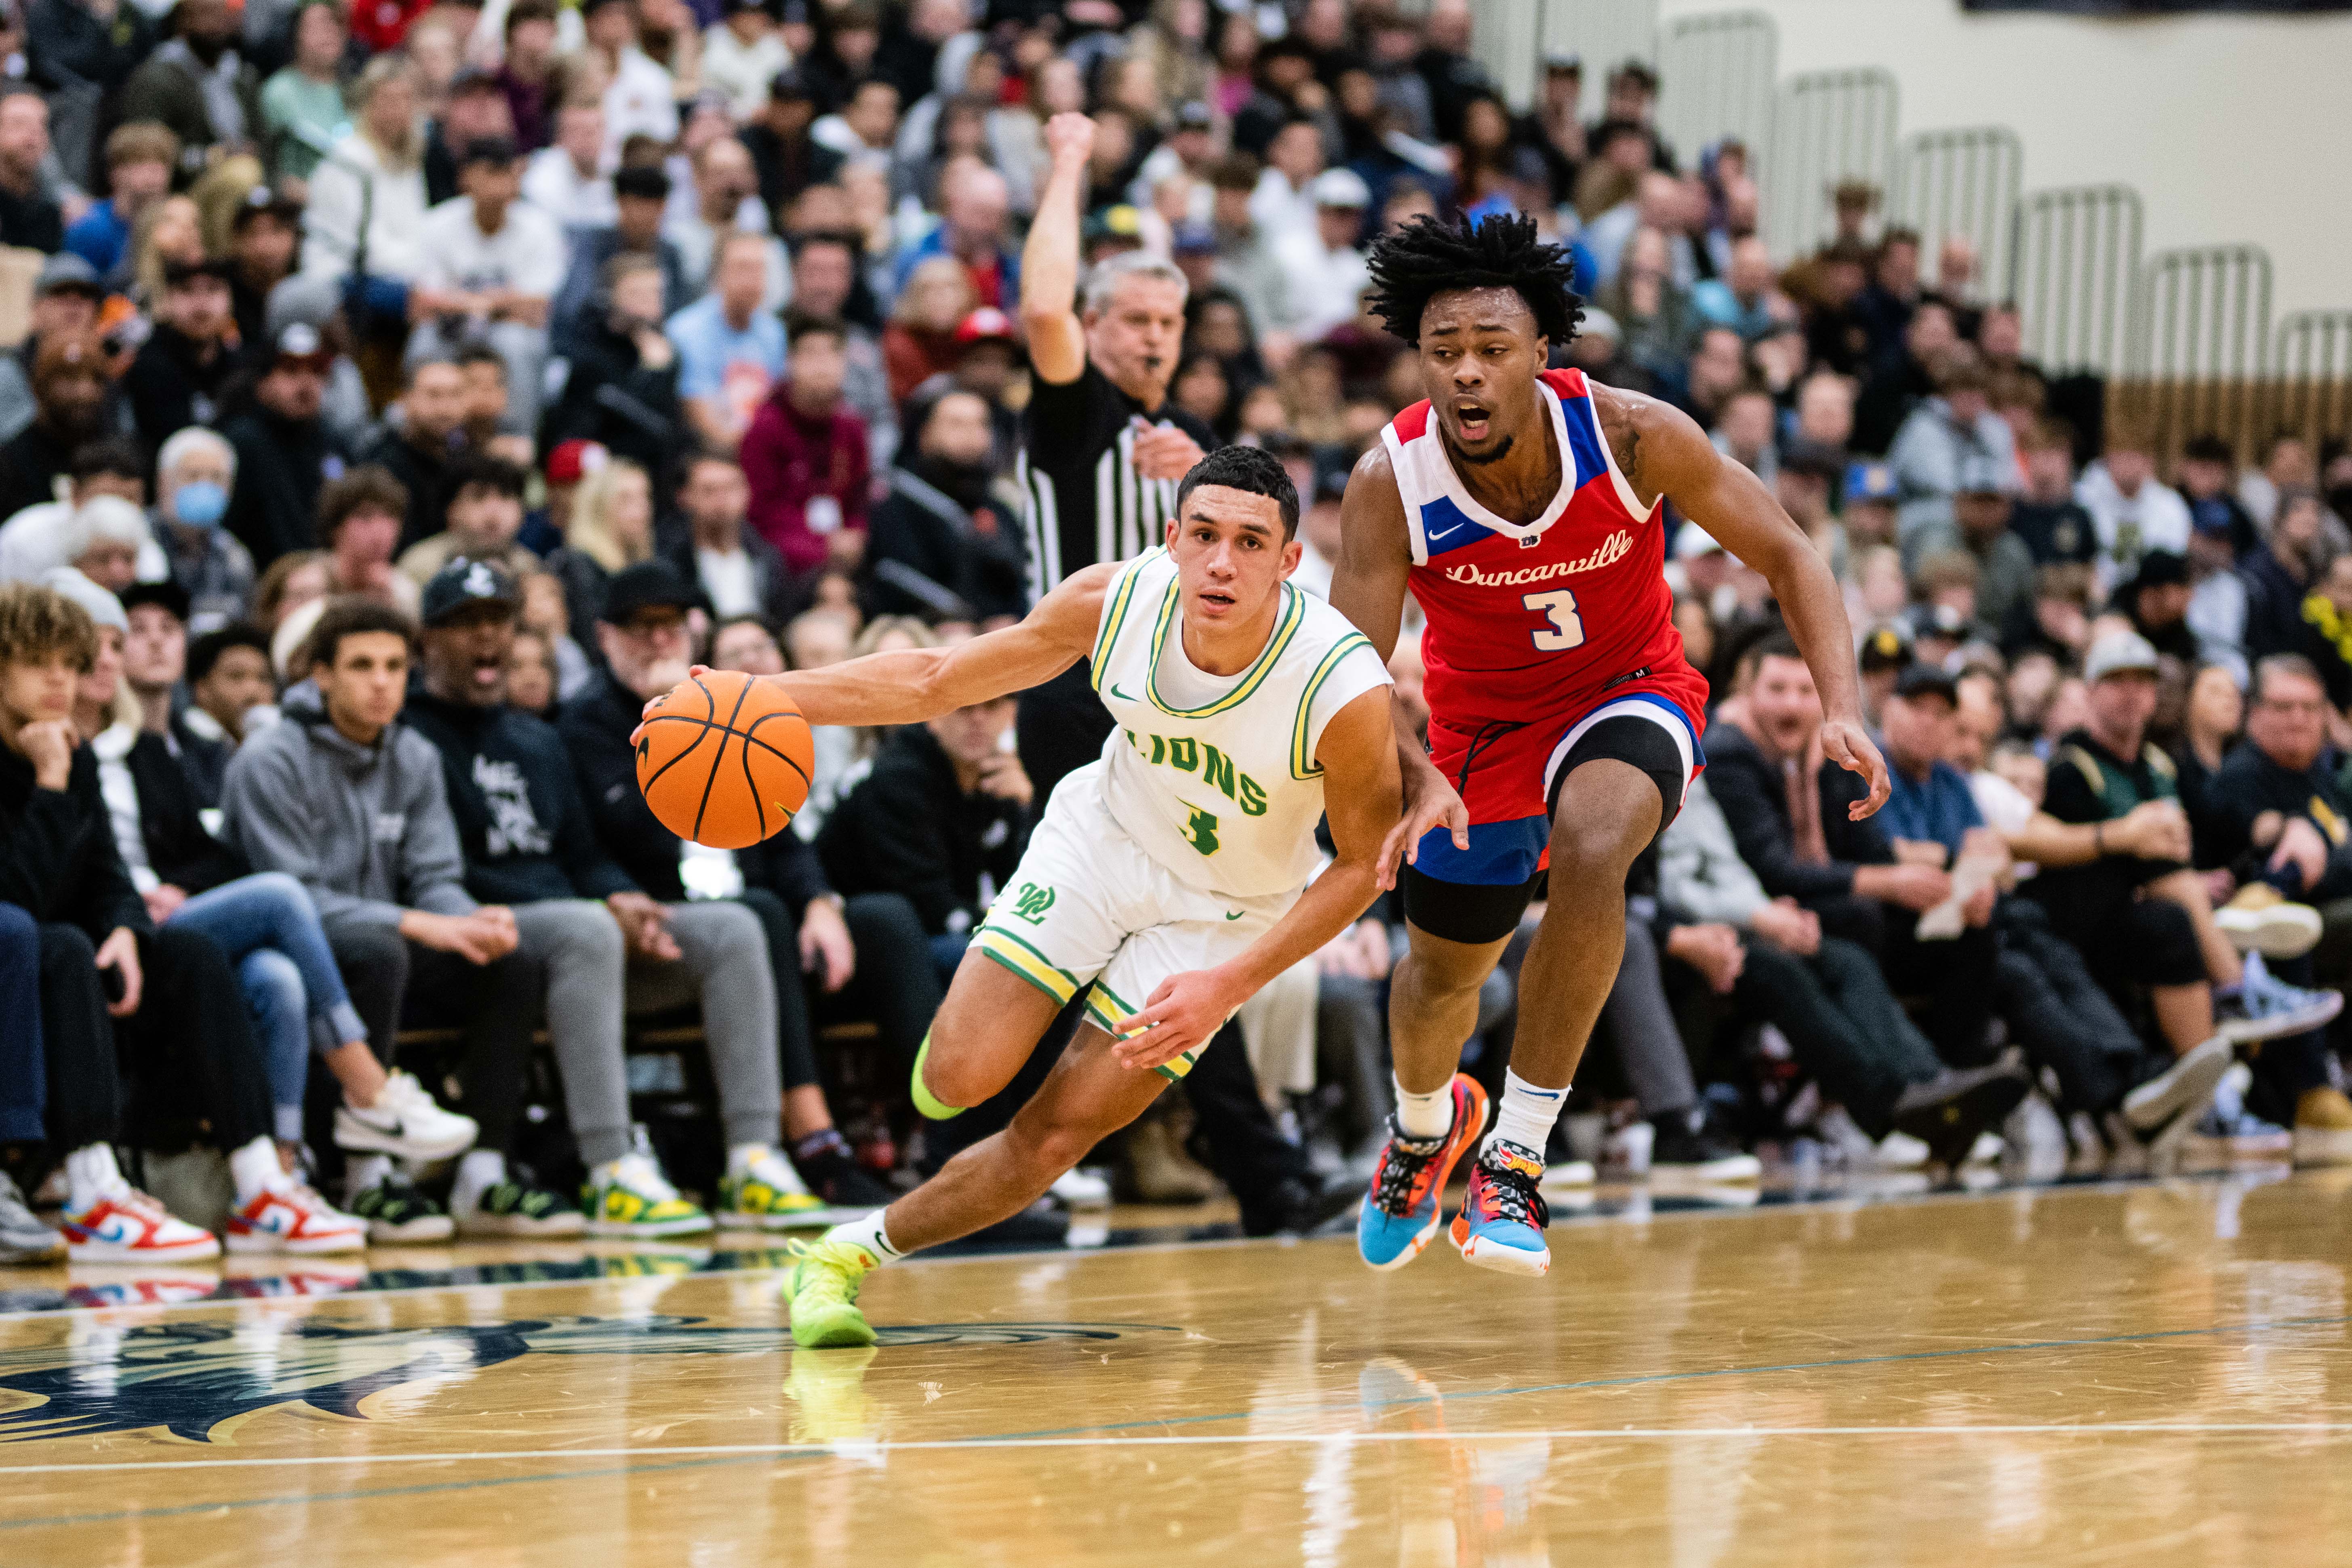
[[1529,524],[1470,498],[1428,402],[1381,433],[1414,543],[1430,717],[1454,731],[1543,724],[1602,693],[1656,691],[1693,724],[1708,682],[1682,656],[1665,520],[1642,508],[1602,437],[1583,371],[1538,376],[1559,494]]

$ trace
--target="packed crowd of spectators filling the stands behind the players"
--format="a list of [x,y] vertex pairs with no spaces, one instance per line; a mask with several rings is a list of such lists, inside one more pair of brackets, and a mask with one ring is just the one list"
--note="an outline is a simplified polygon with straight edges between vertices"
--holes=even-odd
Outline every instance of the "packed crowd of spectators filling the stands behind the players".
[[[741,853],[652,818],[628,733],[691,661],[1025,611],[1023,244],[1070,110],[1080,263],[1181,270],[1169,402],[1291,468],[1303,585],[1421,395],[1364,247],[1496,209],[1573,249],[1555,362],[1686,409],[1844,583],[1896,769],[1863,823],[1762,576],[1663,512],[1710,769],[1635,870],[1576,1154],[1959,1166],[1999,1140],[1919,1145],[1903,1100],[2009,1060],[2009,1147],[2070,1171],[2352,1164],[2352,451],[2159,451],[1865,186],[1776,254],[1748,150],[1668,146],[1639,61],[1585,120],[1569,56],[1515,113],[1465,0],[0,31],[0,244],[38,252],[0,353],[0,1258],[54,1251],[40,1178],[75,1255],[214,1251],[118,1147],[219,1150],[254,1251],[790,1227],[938,1157],[906,1065],[1042,809],[1014,703],[821,731],[809,809]],[[1411,628],[1395,672],[1411,701]],[[1395,922],[1254,1001],[1247,1063],[1103,1152],[1117,1187],[1329,1213],[1390,1110]],[[626,1056],[675,1018],[699,1048]],[[1056,1192],[1023,1220],[1103,1182]]]

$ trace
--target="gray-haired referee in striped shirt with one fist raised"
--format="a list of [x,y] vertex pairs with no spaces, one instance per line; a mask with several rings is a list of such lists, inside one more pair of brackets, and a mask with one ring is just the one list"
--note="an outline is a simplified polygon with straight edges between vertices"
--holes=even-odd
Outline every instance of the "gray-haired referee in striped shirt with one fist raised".
[[[1176,482],[1216,447],[1204,423],[1167,400],[1183,350],[1183,273],[1143,254],[1112,256],[1087,275],[1080,301],[1077,207],[1094,120],[1054,115],[1044,143],[1054,169],[1021,252],[1030,404],[1016,477],[1033,599],[1073,571],[1157,545],[1176,515]],[[1110,712],[1087,682],[1087,661],[1021,698],[1018,733],[1037,799],[1103,755]]]

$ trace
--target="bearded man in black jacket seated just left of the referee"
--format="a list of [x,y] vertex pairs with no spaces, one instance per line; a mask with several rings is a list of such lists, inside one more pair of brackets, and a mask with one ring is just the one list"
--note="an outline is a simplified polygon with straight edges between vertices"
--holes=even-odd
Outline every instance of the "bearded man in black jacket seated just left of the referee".
[[1021,616],[1028,552],[990,494],[988,404],[946,390],[910,411],[915,456],[894,468],[866,531],[866,604],[875,616]]

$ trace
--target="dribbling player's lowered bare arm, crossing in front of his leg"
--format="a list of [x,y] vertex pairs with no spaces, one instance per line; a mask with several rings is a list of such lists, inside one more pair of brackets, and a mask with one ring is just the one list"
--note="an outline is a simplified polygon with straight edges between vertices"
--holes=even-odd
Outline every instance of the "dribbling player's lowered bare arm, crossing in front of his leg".
[[[1237,1006],[1291,964],[1322,952],[1352,926],[1381,891],[1381,846],[1397,823],[1397,745],[1388,724],[1388,686],[1357,696],[1331,715],[1315,762],[1324,771],[1324,816],[1338,858],[1308,884],[1289,914],[1216,969],[1169,976],[1141,1013],[1120,1020],[1112,1056],[1124,1067],[1157,1067],[1209,1039]],[[1127,1030],[1141,1030],[1127,1034]]]

